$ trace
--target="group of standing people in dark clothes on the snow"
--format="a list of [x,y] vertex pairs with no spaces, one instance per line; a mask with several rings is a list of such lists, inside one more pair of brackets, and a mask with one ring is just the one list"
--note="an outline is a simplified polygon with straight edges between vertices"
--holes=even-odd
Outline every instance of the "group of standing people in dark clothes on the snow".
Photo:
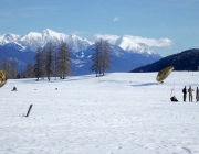
[[[184,101],[186,101],[186,98],[187,98],[187,92],[189,94],[189,102],[192,102],[192,91],[195,91],[191,86],[189,86],[189,88],[187,89],[186,86],[185,88],[182,89],[182,92],[184,92]],[[198,90],[198,87],[196,89],[196,101],[199,101],[199,90]]]

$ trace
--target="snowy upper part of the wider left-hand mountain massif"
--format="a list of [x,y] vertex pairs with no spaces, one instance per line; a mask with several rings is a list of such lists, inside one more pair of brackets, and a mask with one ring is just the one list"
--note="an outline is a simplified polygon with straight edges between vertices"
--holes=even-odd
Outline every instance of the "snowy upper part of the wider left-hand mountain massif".
[[24,52],[25,50],[35,52],[39,46],[43,47],[49,42],[52,42],[55,45],[66,42],[72,52],[84,51],[92,44],[87,40],[83,40],[76,35],[56,33],[50,29],[44,30],[42,33],[30,32],[23,36],[6,34],[0,37],[0,45],[13,47],[20,45],[21,51]]

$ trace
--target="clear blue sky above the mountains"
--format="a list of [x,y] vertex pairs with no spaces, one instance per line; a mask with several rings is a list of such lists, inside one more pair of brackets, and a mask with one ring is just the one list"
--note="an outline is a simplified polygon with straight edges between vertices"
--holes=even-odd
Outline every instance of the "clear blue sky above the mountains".
[[199,48],[198,16],[199,0],[1,0],[0,35],[46,28],[86,38],[133,35],[167,56]]

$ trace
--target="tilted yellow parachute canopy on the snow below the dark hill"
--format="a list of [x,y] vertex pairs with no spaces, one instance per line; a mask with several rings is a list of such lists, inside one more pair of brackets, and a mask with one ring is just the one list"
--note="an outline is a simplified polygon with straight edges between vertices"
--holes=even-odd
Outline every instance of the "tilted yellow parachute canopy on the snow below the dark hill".
[[166,79],[168,77],[168,75],[174,70],[174,66],[168,66],[164,69],[161,69],[157,77],[156,77],[156,80],[157,81],[163,81],[164,79]]

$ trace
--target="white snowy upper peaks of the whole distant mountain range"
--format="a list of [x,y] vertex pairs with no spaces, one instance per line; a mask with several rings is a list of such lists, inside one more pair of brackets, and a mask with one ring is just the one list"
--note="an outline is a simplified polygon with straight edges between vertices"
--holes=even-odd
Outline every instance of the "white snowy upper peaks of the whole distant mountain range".
[[[129,35],[95,35],[94,42],[98,38],[108,40],[112,45],[119,46],[126,52],[157,55],[157,53],[154,52],[150,46],[133,40]],[[18,48],[21,48],[20,51],[24,52],[25,50],[35,52],[39,46],[43,47],[49,42],[52,42],[55,45],[59,45],[62,42],[66,42],[72,52],[85,51],[88,46],[94,44],[94,42],[90,42],[86,38],[81,38],[77,35],[57,33],[50,29],[45,29],[42,33],[30,32],[23,36],[15,34],[4,34],[0,36],[0,45],[7,45],[10,47],[18,46]]]

